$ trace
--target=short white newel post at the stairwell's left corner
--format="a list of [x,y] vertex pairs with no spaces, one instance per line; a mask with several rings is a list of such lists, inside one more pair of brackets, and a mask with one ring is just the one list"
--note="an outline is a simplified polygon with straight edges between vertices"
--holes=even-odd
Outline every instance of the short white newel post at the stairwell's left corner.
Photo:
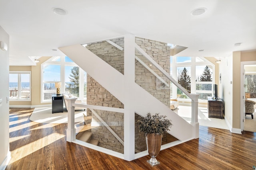
[[75,129],[75,107],[72,106],[77,98],[67,98],[68,102],[68,129],[67,129],[67,142],[72,142],[76,139]]

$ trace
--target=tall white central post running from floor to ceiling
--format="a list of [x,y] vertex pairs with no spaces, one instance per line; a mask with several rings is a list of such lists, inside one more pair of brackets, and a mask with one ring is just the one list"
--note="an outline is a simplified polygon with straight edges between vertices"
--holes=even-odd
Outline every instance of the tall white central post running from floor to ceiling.
[[135,159],[135,36],[124,36],[124,160]]

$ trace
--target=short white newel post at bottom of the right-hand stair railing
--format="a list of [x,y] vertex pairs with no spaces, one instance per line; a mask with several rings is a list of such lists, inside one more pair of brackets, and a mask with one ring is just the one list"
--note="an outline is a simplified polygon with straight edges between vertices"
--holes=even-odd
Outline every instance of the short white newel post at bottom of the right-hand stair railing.
[[199,123],[198,123],[198,96],[200,94],[191,94],[192,96],[192,115],[191,115],[191,125],[193,125],[193,137],[194,139],[199,138]]

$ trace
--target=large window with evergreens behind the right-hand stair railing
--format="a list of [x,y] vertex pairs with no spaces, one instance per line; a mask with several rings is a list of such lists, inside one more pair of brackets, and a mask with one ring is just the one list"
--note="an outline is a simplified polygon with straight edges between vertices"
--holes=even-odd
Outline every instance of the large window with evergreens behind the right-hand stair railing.
[[[214,64],[203,57],[170,57],[170,74],[189,93],[200,94],[199,99],[207,100],[207,96],[212,96],[215,80]],[[172,85],[172,84],[171,84]],[[171,98],[188,97],[176,86],[171,86]]]

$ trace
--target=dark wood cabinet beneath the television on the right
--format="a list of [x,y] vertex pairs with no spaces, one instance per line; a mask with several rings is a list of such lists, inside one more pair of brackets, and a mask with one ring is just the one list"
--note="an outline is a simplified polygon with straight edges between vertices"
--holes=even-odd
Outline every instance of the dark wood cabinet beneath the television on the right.
[[208,117],[223,119],[223,101],[208,98]]

